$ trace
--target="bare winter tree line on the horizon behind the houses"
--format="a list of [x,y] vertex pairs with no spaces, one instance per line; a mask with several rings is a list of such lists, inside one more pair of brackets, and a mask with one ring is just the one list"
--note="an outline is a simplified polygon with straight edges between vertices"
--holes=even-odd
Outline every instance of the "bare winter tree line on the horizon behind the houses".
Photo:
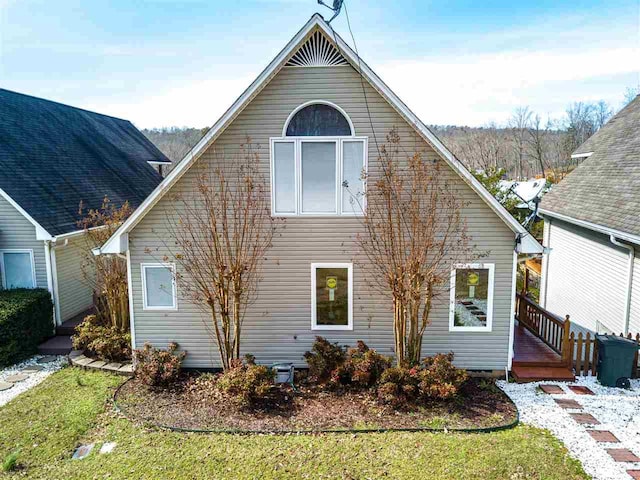
[[[628,88],[626,105],[638,93]],[[528,106],[516,108],[505,124],[482,127],[431,125],[434,133],[472,171],[504,171],[509,179],[544,176],[560,181],[581,161],[571,154],[597,132],[616,108],[600,100],[573,102],[559,118],[543,118]],[[174,162],[166,175],[202,138],[208,128],[155,128],[142,132]]]

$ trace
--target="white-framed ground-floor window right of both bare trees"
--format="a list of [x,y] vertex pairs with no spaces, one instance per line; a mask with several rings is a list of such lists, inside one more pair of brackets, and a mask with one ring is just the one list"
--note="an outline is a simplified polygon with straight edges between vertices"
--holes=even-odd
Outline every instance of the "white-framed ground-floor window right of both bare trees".
[[494,270],[492,263],[470,263],[451,271],[450,331],[491,331]]

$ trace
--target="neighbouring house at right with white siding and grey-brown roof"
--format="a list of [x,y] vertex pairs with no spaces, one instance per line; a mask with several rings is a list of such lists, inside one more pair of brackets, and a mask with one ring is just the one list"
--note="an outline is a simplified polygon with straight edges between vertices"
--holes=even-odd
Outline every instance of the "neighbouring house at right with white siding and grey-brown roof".
[[640,97],[572,155],[544,196],[540,302],[595,332],[640,332]]

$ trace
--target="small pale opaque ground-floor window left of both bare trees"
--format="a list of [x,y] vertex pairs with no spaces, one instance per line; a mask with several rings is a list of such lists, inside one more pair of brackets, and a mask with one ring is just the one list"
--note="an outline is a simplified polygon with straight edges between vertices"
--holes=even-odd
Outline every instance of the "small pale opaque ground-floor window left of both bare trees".
[[175,265],[143,263],[142,298],[145,310],[176,310]]

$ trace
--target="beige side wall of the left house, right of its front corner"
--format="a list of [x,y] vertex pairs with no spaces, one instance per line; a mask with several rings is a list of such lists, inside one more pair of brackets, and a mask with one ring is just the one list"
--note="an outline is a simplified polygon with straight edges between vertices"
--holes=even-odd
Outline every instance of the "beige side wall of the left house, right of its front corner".
[[93,304],[93,290],[82,275],[84,235],[63,241],[55,247],[58,299],[62,321],[84,312]]

